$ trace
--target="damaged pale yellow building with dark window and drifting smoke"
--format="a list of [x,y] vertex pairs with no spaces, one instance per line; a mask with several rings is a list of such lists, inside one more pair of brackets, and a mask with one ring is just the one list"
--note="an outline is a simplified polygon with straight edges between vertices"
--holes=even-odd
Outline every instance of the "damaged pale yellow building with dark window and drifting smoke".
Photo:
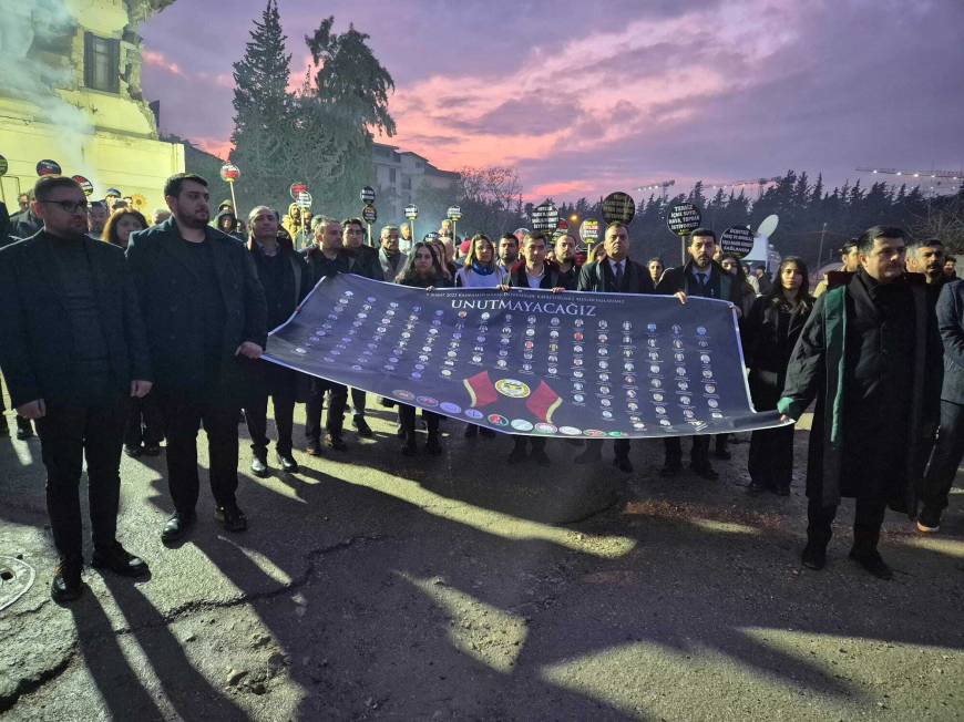
[[[157,137],[141,92],[140,23],[173,0],[60,0],[40,12],[7,3],[0,18],[0,178],[7,207],[37,180],[37,164],[143,196],[164,207],[164,179],[184,171],[184,146]],[[137,198],[141,202],[141,198]]]

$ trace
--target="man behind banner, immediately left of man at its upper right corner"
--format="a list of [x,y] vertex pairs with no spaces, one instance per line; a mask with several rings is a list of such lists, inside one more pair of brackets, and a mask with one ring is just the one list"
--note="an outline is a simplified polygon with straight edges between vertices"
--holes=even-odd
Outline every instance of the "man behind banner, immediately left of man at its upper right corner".
[[[580,271],[577,290],[602,293],[653,293],[653,279],[649,271],[634,260],[629,260],[629,231],[624,223],[614,220],[606,227],[604,239],[606,258],[598,262],[585,264]],[[586,441],[585,451],[576,456],[576,464],[589,464],[602,460],[603,442],[598,439]],[[613,464],[623,472],[632,472],[629,462],[629,440],[617,439],[613,442],[616,453]]]

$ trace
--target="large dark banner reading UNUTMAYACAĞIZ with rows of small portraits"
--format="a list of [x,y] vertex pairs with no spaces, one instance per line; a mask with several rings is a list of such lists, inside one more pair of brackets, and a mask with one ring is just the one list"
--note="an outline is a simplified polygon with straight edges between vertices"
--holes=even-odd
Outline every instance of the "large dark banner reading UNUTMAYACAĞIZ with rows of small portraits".
[[496,431],[621,439],[780,425],[755,413],[725,301],[322,279],[265,359]]

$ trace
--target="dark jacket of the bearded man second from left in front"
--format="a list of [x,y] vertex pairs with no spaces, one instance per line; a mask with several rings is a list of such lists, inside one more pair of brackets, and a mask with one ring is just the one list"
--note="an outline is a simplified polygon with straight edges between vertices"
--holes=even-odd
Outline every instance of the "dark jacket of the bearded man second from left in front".
[[[225,308],[221,330],[221,383],[226,393],[240,391],[245,374],[235,351],[244,341],[267,342],[267,306],[250,251],[236,238],[206,228]],[[158,390],[204,390],[203,328],[194,299],[185,297],[195,283],[194,258],[174,224],[131,235],[127,261],[134,276]]]

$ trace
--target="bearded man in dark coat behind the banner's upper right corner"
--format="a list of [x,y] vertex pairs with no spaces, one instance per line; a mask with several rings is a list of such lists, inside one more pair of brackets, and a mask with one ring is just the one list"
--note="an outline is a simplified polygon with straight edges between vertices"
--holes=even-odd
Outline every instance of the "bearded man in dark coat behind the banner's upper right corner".
[[[687,252],[689,260],[684,266],[667,268],[656,285],[657,293],[685,293],[700,298],[718,298],[734,301],[738,292],[734,282],[736,276],[730,276],[720,268],[714,259],[716,251],[716,234],[709,228],[697,228],[689,235]],[[719,476],[709,463],[710,436],[694,436],[689,452],[690,468],[707,479]],[[683,471],[683,444],[679,436],[664,440],[666,462],[663,466],[664,476],[676,476]]]

